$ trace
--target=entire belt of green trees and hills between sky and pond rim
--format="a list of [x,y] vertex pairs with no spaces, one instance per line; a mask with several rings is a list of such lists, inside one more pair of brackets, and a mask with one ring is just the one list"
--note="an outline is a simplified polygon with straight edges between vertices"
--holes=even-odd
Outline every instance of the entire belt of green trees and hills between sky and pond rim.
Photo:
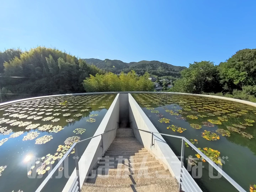
[[[107,71],[97,68],[93,65],[95,63]],[[119,73],[121,75],[117,75]],[[154,85],[148,79],[152,74],[162,76],[159,79],[175,80],[169,91],[256,102],[256,49],[239,50],[219,65],[201,61],[190,64],[188,68],[158,61],[124,63],[120,60],[87,59],[85,62],[46,47],[24,52],[20,49],[0,52],[2,101],[85,91],[153,91]]]

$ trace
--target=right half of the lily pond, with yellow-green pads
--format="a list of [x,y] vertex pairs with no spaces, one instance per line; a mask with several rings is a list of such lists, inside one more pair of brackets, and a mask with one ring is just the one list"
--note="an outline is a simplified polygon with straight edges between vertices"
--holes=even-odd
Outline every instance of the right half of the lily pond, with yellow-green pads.
[[[256,183],[256,108],[227,100],[176,95],[132,94],[160,133],[183,136],[221,166],[246,191]],[[176,155],[180,139],[164,137]],[[236,191],[224,177],[210,178],[209,164],[190,146],[185,148],[185,166],[200,162],[203,191]],[[213,170],[215,176],[217,171]]]

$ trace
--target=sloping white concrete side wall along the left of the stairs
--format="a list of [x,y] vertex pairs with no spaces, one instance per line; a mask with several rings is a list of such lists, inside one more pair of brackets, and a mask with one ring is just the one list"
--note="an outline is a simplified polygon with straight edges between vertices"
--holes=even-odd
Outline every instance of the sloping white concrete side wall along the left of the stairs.
[[[119,121],[119,96],[120,95],[117,94],[116,98],[114,99],[113,103],[108,109],[105,117],[102,119],[102,122],[96,130],[94,136],[104,133],[108,130],[114,129],[115,127],[118,128],[119,124],[117,122]],[[105,151],[111,145],[115,137],[116,130],[112,130],[108,133],[103,134],[103,149],[101,147],[101,136],[91,139],[90,143],[88,144],[86,150],[84,151],[78,162],[80,186],[82,186],[82,184],[84,183],[84,180],[86,176],[89,174],[89,171],[97,163],[98,158],[101,158],[102,155],[105,154]],[[63,192],[69,191],[69,188],[75,180],[75,177],[76,171],[74,170],[68,182],[66,183]]]

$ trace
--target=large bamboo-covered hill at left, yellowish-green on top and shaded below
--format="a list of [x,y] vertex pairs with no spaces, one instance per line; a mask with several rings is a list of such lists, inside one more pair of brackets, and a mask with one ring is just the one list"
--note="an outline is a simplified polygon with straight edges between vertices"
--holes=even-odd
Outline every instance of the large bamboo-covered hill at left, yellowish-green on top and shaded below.
[[19,49],[0,52],[0,73],[1,91],[5,93],[2,99],[6,101],[40,94],[84,92],[83,80],[103,71],[60,50],[37,47],[26,52]]

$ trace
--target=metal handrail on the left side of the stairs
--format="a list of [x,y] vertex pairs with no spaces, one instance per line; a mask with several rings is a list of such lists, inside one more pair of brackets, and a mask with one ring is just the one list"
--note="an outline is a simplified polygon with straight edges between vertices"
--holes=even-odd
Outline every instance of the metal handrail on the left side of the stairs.
[[[116,124],[117,123],[119,123],[119,122],[116,122]],[[55,173],[55,171],[57,171],[57,169],[58,169],[58,167],[62,164],[62,162],[66,159],[66,157],[70,154],[70,152],[74,149],[74,147],[75,147],[75,156],[78,156],[77,155],[77,145],[76,144],[78,144],[78,143],[81,143],[81,142],[84,142],[84,141],[86,141],[86,140],[89,140],[89,139],[92,139],[92,138],[95,138],[95,137],[98,137],[98,136],[100,136],[101,135],[101,147],[102,147],[102,149],[103,149],[103,138],[102,138],[102,135],[103,134],[105,134],[105,133],[108,133],[108,132],[111,132],[112,130],[115,130],[115,129],[117,129],[116,128],[116,125],[115,125],[115,128],[114,129],[111,129],[111,130],[108,130],[108,131],[106,131],[106,132],[104,132],[104,133],[101,133],[101,134],[98,134],[98,135],[95,135],[95,136],[93,136],[93,137],[89,137],[89,138],[87,138],[87,139],[83,139],[83,140],[81,140],[81,141],[79,141],[79,142],[75,142],[70,148],[69,148],[69,150],[64,154],[64,156],[63,156],[63,158],[62,159],[60,159],[60,161],[58,162],[58,164],[53,168],[53,170],[48,174],[48,176],[44,179],[44,181],[41,183],[41,185],[37,188],[37,190],[35,191],[35,192],[40,192],[40,191],[42,191],[42,189],[46,186],[46,184],[48,183],[48,181],[50,180],[50,178],[53,176],[53,174]],[[79,189],[81,189],[80,188],[80,181],[79,181],[79,169],[78,169],[78,159],[77,158],[75,158],[75,164],[76,164],[76,176],[77,176],[77,180],[78,180],[78,185],[79,185]]]

